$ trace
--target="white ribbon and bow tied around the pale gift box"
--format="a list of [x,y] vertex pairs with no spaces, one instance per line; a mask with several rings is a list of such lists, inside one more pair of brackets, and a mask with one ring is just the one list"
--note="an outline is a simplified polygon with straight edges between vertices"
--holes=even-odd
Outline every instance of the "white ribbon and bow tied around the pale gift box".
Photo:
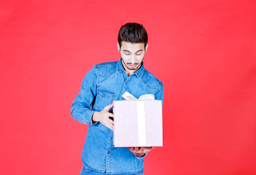
[[136,99],[129,92],[124,92],[122,97],[126,100],[137,101],[137,122],[138,122],[138,146],[146,146],[146,124],[145,124],[145,109],[144,101],[145,100],[154,100],[155,96],[153,94],[141,95],[139,99]]

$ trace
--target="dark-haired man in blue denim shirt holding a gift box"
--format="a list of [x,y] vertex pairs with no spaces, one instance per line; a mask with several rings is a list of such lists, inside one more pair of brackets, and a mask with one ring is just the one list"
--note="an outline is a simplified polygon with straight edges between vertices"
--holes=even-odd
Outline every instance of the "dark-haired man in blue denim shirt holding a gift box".
[[81,153],[81,175],[143,175],[144,157],[153,149],[113,145],[113,101],[124,100],[121,95],[126,91],[136,98],[153,94],[156,100],[163,100],[162,82],[144,68],[143,59],[148,49],[144,27],[137,23],[123,25],[117,49],[120,60],[94,65],[72,103],[72,117],[89,125]]

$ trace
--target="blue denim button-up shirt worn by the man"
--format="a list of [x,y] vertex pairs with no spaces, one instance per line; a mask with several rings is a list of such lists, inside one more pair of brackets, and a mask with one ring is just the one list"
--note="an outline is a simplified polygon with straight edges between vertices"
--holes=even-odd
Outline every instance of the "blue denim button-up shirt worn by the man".
[[100,122],[92,122],[95,111],[103,110],[113,101],[124,100],[121,95],[126,91],[136,98],[153,94],[156,100],[163,101],[162,82],[148,72],[143,63],[137,72],[128,76],[120,59],[94,65],[83,79],[81,91],[72,103],[72,117],[89,125],[81,158],[83,164],[94,171],[131,174],[144,166],[144,156],[135,157],[128,148],[115,148],[113,131]]

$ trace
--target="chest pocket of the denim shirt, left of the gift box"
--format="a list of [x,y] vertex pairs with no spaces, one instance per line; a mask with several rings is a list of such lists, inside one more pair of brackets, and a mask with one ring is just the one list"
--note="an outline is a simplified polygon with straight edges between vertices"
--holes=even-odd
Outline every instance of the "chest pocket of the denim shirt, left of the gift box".
[[115,98],[115,92],[111,92],[108,90],[97,90],[97,96],[96,96],[96,106],[94,106],[98,111],[103,110],[107,105],[110,105],[113,103]]

